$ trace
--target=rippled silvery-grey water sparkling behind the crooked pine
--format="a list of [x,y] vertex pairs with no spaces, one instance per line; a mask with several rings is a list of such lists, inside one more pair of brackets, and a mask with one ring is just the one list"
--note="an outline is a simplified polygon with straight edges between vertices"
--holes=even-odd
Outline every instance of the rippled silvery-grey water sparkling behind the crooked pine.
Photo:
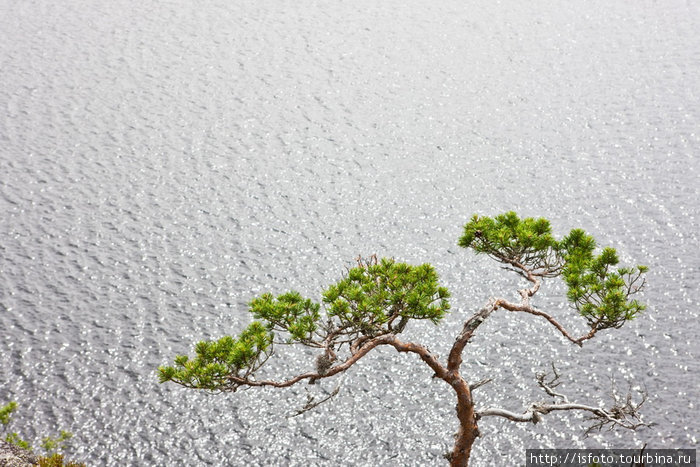
[[[445,355],[519,285],[461,226],[512,209],[649,265],[649,309],[583,349],[493,316],[464,364],[494,378],[479,406],[543,399],[554,361],[581,402],[646,388],[654,425],[485,419],[473,465],[698,447],[697,2],[0,0],[0,109],[0,403],[27,438],[67,429],[89,465],[440,465],[453,395],[417,358],[377,351],[293,418],[311,389],[210,396],[155,370],[371,253],[435,265],[454,308],[406,338]],[[582,332],[560,292],[536,303]]]

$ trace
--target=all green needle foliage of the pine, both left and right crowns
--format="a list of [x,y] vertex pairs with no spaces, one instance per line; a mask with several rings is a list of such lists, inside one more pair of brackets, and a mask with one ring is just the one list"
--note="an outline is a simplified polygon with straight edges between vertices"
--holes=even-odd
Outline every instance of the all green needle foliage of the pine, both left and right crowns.
[[[519,218],[507,212],[494,218],[473,216],[464,226],[459,245],[472,248],[507,265],[533,284],[545,277],[561,276],[567,297],[595,331],[619,327],[633,319],[644,305],[630,296],[646,272],[644,266],[613,269],[615,250],[605,248],[597,256],[595,240],[574,229],[562,240],[554,238],[544,218]],[[539,285],[534,286],[530,295]],[[252,384],[253,375],[272,355],[276,338],[324,350],[324,372],[333,365],[335,351],[347,344],[361,345],[364,338],[398,334],[412,319],[438,324],[450,309],[449,292],[440,287],[429,264],[411,266],[393,259],[358,259],[337,283],[323,292],[321,304],[298,292],[277,297],[266,293],[253,299],[254,321],[238,338],[225,336],[195,346],[195,357],[175,358],[174,366],[159,368],[161,383],[173,381],[189,388],[234,391]],[[529,305],[527,305],[529,306]],[[354,343],[354,344],[353,344]]]

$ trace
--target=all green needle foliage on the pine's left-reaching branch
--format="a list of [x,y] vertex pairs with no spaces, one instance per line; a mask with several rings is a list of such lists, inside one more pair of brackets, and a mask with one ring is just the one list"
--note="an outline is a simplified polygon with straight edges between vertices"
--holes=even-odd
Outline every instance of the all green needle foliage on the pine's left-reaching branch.
[[238,338],[225,336],[218,341],[199,342],[194,358],[179,355],[174,366],[159,368],[160,382],[235,391],[270,357],[276,334],[286,335],[286,343],[324,348],[331,355],[334,347],[359,336],[399,333],[410,319],[437,324],[450,308],[449,296],[447,289],[438,285],[437,273],[429,264],[410,266],[393,259],[360,259],[357,267],[323,293],[325,317],[320,304],[302,298],[298,292],[277,298],[263,294],[249,304],[259,321]]

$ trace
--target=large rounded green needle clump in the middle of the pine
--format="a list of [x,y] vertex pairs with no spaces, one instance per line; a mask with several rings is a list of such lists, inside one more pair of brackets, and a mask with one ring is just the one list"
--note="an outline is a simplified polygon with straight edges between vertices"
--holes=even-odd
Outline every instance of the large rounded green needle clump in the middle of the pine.
[[409,319],[437,324],[450,308],[449,296],[429,264],[411,266],[384,258],[350,269],[326,289],[323,302],[341,328],[372,336],[401,332]]

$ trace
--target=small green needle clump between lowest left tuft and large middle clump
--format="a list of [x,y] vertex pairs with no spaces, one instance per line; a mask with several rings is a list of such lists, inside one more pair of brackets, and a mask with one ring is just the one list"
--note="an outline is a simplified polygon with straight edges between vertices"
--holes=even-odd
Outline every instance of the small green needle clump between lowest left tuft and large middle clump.
[[286,331],[290,341],[309,342],[321,318],[320,305],[304,300],[298,292],[289,292],[275,299],[266,293],[250,302],[250,312],[265,320],[268,329]]

